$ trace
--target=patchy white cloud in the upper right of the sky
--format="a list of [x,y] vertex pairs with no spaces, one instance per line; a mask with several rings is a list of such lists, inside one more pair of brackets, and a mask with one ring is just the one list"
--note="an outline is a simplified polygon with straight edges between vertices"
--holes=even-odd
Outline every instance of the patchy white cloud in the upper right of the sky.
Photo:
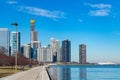
[[91,4],[91,3],[85,3],[85,5],[88,5],[92,8],[92,10],[89,11],[90,16],[108,16],[111,12],[112,6],[110,4]]

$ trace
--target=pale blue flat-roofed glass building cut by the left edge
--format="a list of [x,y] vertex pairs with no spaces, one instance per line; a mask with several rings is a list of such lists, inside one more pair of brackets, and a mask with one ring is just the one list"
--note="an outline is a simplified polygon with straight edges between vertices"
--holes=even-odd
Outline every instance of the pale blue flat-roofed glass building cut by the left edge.
[[5,47],[10,55],[10,31],[7,28],[0,28],[0,46]]

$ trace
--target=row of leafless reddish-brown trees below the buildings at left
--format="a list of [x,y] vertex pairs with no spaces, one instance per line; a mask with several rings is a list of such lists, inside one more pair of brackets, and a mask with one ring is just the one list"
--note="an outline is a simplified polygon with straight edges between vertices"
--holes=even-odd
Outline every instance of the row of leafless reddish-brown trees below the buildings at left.
[[[7,56],[7,49],[3,46],[0,46],[0,66],[14,66],[15,65],[15,56]],[[18,65],[28,65],[30,64],[30,59],[24,57],[21,53],[17,53],[17,64]],[[31,64],[38,64],[37,61],[31,60]]]

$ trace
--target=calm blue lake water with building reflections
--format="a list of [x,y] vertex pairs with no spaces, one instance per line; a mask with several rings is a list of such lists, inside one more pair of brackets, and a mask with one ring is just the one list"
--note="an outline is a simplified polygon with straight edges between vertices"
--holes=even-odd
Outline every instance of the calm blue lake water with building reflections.
[[55,80],[120,80],[120,66],[52,66]]

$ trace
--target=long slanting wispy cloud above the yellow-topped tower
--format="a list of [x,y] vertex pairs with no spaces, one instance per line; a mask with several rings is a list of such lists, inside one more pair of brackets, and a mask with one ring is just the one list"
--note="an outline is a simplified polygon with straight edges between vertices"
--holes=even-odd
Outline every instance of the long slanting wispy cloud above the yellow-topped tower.
[[37,16],[53,18],[53,19],[64,18],[64,15],[65,15],[65,13],[62,11],[50,11],[46,9],[29,7],[29,6],[21,6],[19,7],[19,11],[37,15]]

